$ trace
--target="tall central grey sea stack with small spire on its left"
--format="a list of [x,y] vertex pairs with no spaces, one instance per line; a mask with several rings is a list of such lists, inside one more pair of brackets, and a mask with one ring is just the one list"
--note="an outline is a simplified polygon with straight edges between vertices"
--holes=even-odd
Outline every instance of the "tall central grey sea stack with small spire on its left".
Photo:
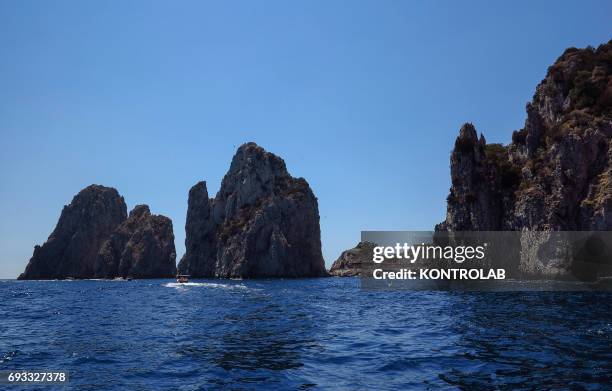
[[321,255],[317,199],[285,162],[254,143],[242,145],[221,189],[208,198],[200,182],[189,192],[181,273],[197,277],[318,277]]

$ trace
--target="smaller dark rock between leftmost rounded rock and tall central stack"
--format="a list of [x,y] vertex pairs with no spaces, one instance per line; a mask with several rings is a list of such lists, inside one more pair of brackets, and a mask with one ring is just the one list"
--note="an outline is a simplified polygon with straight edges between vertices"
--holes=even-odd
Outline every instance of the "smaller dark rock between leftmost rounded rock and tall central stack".
[[95,266],[96,278],[172,278],[176,275],[172,221],[151,215],[138,205],[102,245]]

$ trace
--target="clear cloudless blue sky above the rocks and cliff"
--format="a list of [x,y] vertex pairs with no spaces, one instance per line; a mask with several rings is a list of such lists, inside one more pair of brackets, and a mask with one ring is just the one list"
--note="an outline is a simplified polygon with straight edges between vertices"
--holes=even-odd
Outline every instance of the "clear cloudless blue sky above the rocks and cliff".
[[92,183],[171,217],[180,258],[189,188],[247,141],[310,183],[328,266],[432,229],[461,124],[509,142],[563,50],[612,38],[610,1],[461,3],[0,1],[0,278]]

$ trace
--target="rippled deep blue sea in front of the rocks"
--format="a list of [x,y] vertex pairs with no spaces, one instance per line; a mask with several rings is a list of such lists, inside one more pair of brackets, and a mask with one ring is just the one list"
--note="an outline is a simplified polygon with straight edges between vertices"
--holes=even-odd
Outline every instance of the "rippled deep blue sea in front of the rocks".
[[69,390],[612,384],[606,292],[368,292],[354,278],[2,281],[0,319],[0,370],[68,370]]

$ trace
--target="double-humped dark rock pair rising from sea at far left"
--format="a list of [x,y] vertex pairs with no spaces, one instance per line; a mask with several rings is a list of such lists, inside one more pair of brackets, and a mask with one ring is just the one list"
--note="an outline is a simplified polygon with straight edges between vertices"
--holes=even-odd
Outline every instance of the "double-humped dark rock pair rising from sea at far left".
[[151,216],[146,205],[127,218],[117,190],[91,185],[64,206],[19,279],[170,277],[175,258],[170,219]]

